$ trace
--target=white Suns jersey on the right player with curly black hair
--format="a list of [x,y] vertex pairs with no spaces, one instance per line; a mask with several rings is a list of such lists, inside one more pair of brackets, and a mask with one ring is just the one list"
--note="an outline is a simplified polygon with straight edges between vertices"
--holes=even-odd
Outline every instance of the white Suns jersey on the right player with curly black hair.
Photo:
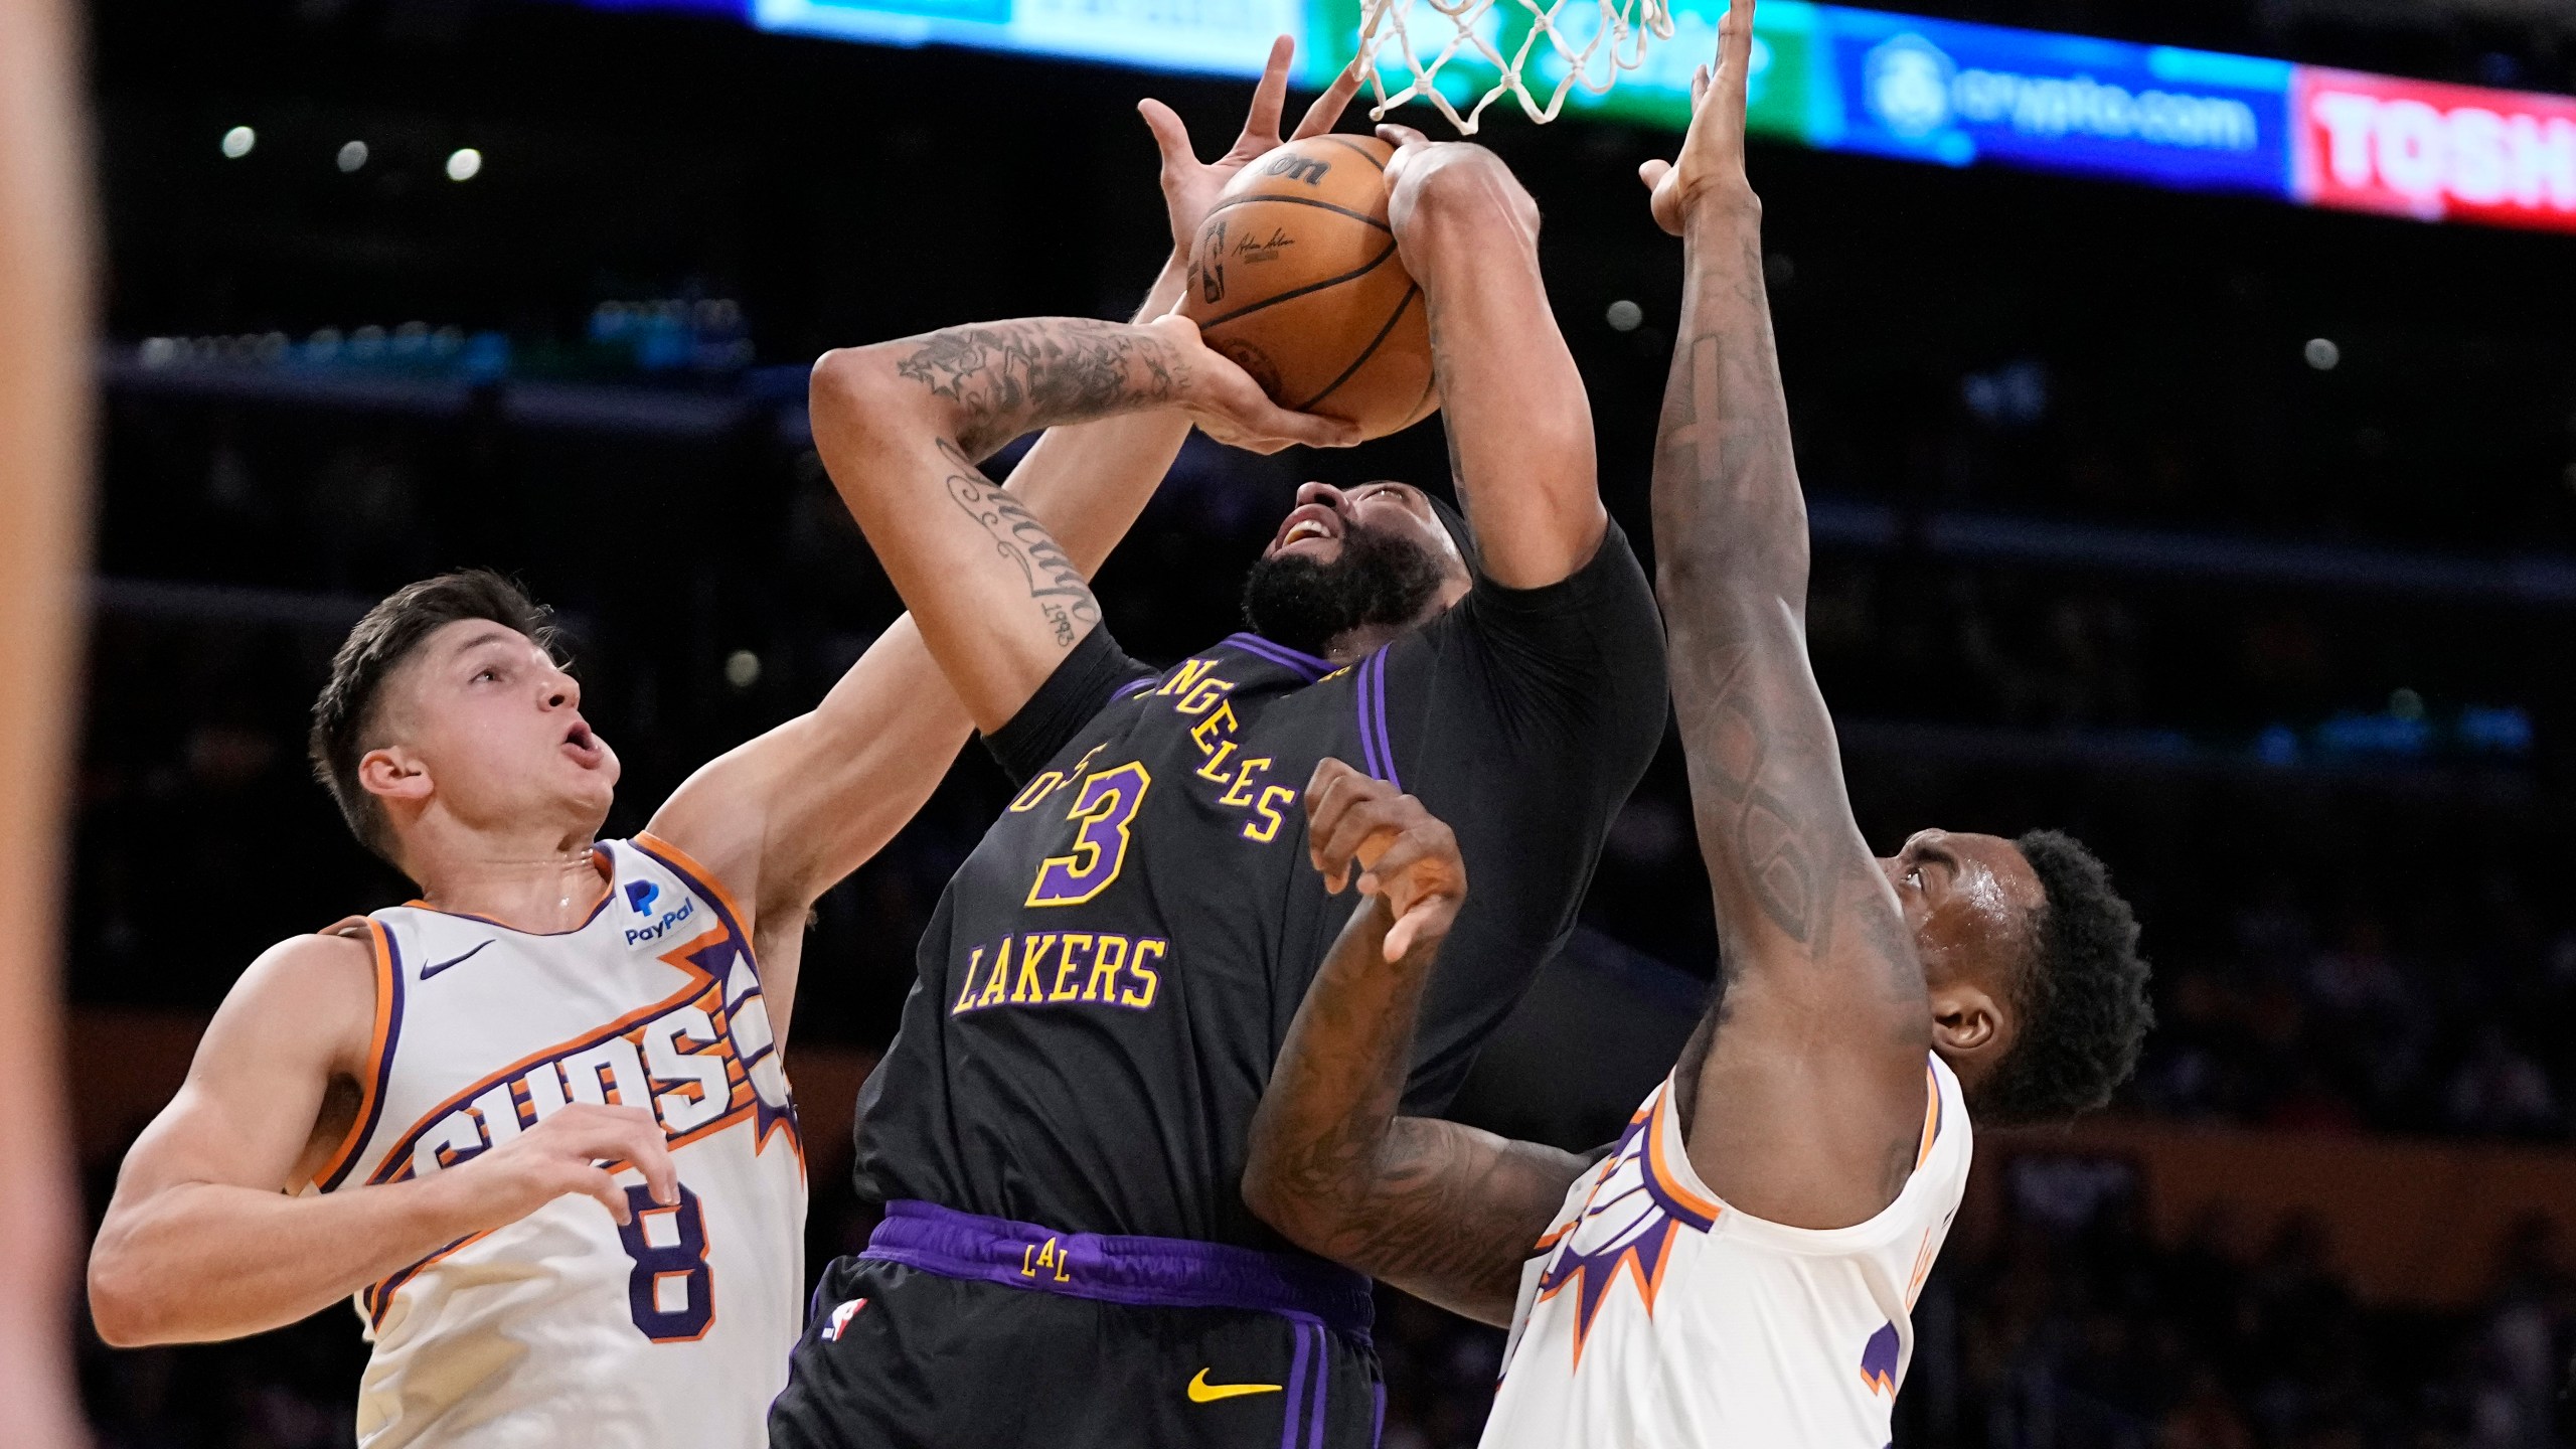
[[1924,1145],[1855,1227],[1783,1227],[1700,1183],[1672,1080],[1566,1191],[1522,1269],[1484,1449],[1883,1449],[1914,1294],[1968,1189],[1968,1111],[1932,1057]]

